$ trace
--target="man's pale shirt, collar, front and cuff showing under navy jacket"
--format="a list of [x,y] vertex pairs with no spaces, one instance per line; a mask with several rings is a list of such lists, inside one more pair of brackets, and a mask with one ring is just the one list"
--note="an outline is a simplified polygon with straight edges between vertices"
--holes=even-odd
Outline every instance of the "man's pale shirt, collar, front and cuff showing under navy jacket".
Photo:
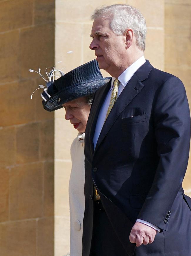
[[[118,80],[120,81],[120,84],[118,86],[118,95],[117,95],[117,97],[119,97],[119,95],[121,94],[121,92],[125,88],[128,81],[135,74],[135,72],[140,68],[140,66],[142,66],[144,63],[145,63],[145,57],[141,56],[131,66],[129,66],[127,69],[125,69],[125,71],[123,71],[122,74],[120,74],[120,76],[118,77]],[[99,112],[99,115],[98,115],[98,120],[97,120],[97,123],[96,123],[95,133],[94,133],[94,136],[93,136],[94,149],[96,147],[98,138],[100,136],[100,132],[102,130],[102,127],[103,127],[103,124],[104,124],[104,121],[105,121],[106,113],[108,111],[108,107],[109,107],[109,103],[110,103],[110,99],[111,99],[111,93],[112,93],[112,89],[113,89],[113,82],[114,82],[115,78],[116,77],[112,77],[112,79],[111,79],[111,88],[108,91],[108,94],[106,95],[105,100],[104,100],[104,102],[103,102],[103,104],[100,108],[100,112]],[[138,219],[136,222],[141,222],[143,224],[146,224],[147,226],[150,226],[150,227],[154,228],[157,231],[160,231],[160,229],[157,226],[153,225],[150,222],[140,220],[140,219]]]

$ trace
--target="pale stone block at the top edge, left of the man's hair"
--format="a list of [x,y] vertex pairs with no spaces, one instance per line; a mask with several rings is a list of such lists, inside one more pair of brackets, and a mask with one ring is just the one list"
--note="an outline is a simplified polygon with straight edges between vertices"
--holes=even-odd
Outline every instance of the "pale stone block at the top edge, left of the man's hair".
[[[89,22],[94,10],[102,5],[125,4],[125,0],[97,1],[56,1],[56,21],[58,22]],[[71,15],[72,14],[72,15]]]

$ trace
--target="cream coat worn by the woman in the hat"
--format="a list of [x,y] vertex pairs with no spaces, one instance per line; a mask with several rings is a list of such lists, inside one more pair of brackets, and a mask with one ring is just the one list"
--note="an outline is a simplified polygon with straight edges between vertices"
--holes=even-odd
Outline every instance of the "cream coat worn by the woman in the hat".
[[85,133],[78,133],[71,145],[72,169],[69,181],[71,256],[82,256],[82,227],[85,208],[84,136]]

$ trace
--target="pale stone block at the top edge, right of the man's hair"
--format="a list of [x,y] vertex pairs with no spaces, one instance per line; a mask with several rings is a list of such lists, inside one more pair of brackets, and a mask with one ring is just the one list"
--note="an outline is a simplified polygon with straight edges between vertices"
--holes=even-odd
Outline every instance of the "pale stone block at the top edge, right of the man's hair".
[[147,27],[164,27],[163,0],[126,0],[126,3],[140,10],[146,20]]

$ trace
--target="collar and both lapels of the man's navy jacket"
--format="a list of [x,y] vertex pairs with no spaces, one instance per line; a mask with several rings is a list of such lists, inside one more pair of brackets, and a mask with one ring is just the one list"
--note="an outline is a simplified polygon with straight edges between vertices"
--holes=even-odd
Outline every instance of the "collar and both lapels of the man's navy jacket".
[[[153,66],[149,63],[148,60],[135,72],[132,78],[129,80],[128,84],[123,89],[123,92],[117,98],[112,110],[110,111],[108,118],[106,119],[103,128],[100,132],[95,151],[100,146],[101,142],[105,138],[106,134],[109,132],[112,125],[115,123],[116,119],[120,113],[127,107],[127,105],[136,97],[136,95],[143,89],[144,84],[142,81],[148,78],[150,71],[153,69]],[[93,153],[93,136],[96,128],[96,122],[98,119],[98,114],[100,107],[103,104],[103,101],[106,97],[106,94],[111,86],[111,80],[105,84],[101,89],[96,92],[98,97],[96,97],[96,102],[93,104],[92,115],[91,115],[91,127],[90,127],[90,144],[91,151]]]

